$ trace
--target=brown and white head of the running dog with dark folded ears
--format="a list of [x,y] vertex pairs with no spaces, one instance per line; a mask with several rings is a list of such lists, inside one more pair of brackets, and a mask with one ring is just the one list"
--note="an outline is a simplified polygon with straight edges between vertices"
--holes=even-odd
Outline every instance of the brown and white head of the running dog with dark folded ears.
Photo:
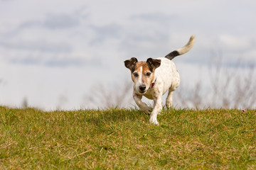
[[145,94],[154,81],[154,72],[161,65],[161,60],[149,58],[146,62],[138,62],[132,57],[124,61],[125,67],[131,70],[134,90],[139,94]]

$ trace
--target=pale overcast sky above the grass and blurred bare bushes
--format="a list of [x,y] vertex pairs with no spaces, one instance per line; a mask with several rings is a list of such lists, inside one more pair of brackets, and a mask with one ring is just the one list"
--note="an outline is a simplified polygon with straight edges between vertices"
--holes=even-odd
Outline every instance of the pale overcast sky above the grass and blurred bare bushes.
[[164,57],[192,34],[192,50],[174,59],[185,87],[208,79],[212,58],[256,64],[255,8],[254,0],[0,0],[0,105],[90,108],[98,84],[118,93],[130,81],[124,60]]

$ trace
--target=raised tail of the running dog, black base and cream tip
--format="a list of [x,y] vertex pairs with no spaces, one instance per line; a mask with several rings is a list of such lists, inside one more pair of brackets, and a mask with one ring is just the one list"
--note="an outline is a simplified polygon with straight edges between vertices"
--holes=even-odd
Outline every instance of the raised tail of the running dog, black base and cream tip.
[[172,60],[174,59],[174,57],[178,55],[185,54],[186,52],[191,50],[194,42],[195,42],[195,35],[191,35],[191,38],[189,39],[188,43],[184,47],[181,47],[178,50],[174,50],[173,52],[170,52],[168,55],[166,55],[166,58],[168,58],[169,60]]

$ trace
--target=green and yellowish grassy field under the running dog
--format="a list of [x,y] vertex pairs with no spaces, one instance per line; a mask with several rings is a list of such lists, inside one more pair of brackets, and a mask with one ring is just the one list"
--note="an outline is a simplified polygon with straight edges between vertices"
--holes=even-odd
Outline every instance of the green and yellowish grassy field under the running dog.
[[0,169],[256,169],[256,111],[0,107]]

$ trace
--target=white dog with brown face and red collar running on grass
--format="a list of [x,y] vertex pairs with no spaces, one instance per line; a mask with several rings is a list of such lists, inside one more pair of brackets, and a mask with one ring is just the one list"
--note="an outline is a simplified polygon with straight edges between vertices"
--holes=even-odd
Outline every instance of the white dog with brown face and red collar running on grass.
[[[170,52],[165,57],[149,58],[146,62],[138,62],[137,58],[132,57],[130,60],[124,61],[124,66],[131,71],[132,81],[134,82],[134,101],[141,111],[150,114],[150,123],[159,125],[156,117],[162,108],[161,98],[167,91],[166,108],[171,108],[173,92],[180,84],[180,77],[172,59],[191,50],[194,41],[195,36],[191,35],[185,46]],[[142,96],[154,101],[152,111],[146,103],[142,102]]]

